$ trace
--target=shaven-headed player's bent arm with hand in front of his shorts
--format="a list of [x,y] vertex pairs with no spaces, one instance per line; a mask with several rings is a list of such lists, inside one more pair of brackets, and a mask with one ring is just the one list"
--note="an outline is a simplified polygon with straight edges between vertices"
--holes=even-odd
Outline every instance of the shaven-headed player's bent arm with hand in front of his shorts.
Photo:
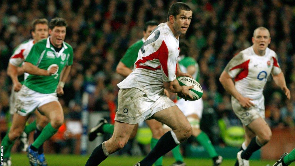
[[251,102],[251,100],[248,97],[243,97],[236,89],[234,82],[232,81],[232,77],[230,77],[230,75],[226,72],[223,71],[219,77],[219,81],[222,84],[222,86],[224,87],[224,89],[229,92],[233,97],[235,97],[240,105],[242,105],[242,107],[245,108],[250,108],[252,106],[254,106],[253,102]]

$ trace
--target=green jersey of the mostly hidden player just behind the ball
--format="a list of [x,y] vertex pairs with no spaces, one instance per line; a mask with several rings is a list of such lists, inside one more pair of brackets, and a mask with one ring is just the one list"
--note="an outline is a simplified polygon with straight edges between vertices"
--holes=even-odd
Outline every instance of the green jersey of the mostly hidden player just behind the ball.
[[196,60],[192,57],[186,56],[181,58],[180,60],[178,60],[178,64],[179,64],[179,68],[182,72],[187,73],[187,67],[191,66],[191,65],[195,65],[196,67],[196,72],[194,74],[192,74],[192,76],[194,77],[194,79],[199,82],[199,78],[200,78],[200,73],[199,73],[199,64],[196,62]]

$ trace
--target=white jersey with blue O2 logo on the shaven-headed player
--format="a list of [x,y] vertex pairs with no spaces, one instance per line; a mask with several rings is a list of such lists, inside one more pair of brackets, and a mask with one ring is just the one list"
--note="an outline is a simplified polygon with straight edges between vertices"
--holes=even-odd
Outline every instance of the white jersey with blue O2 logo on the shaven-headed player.
[[234,56],[224,71],[235,78],[235,87],[242,96],[258,99],[269,75],[280,74],[281,68],[273,50],[266,48],[265,55],[259,56],[251,46]]

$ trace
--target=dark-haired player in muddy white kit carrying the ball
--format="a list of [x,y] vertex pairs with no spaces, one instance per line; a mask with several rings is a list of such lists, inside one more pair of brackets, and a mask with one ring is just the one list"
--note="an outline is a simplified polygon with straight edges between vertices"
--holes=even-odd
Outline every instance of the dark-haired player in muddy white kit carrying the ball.
[[186,33],[191,17],[192,11],[187,4],[174,3],[169,9],[167,22],[158,25],[142,45],[135,70],[118,84],[120,90],[114,134],[94,149],[86,166],[99,165],[110,154],[122,149],[135,124],[147,119],[156,119],[172,130],[165,133],[136,166],[153,165],[159,157],[191,136],[189,121],[164,95],[166,88],[184,99],[192,99],[189,89],[193,86],[180,86],[176,80],[176,76],[191,77],[182,73],[177,65],[179,36]]

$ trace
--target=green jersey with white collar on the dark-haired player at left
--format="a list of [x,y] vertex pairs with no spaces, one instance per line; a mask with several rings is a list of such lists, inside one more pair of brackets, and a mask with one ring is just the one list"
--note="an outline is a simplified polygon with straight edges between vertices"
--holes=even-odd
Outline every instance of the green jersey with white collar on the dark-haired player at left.
[[71,45],[63,42],[63,48],[59,52],[56,52],[49,38],[36,43],[25,60],[44,70],[49,69],[51,65],[58,65],[56,74],[51,76],[30,74],[24,82],[24,85],[28,88],[44,94],[55,92],[61,71],[65,66],[71,66],[73,64],[73,48]]

